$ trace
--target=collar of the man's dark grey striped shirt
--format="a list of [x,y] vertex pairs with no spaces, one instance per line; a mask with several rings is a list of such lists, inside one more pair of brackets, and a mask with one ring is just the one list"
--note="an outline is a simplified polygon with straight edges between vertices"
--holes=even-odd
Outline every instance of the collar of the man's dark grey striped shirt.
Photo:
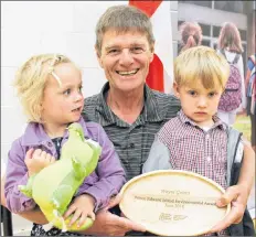
[[[98,110],[102,115],[98,118],[98,121],[103,127],[116,123],[118,119],[106,103],[106,95],[108,90],[109,83],[106,83],[99,94],[99,101],[96,108],[96,110]],[[158,106],[158,101],[153,95],[153,91],[148,87],[148,85],[145,85],[145,106],[141,114],[145,121],[163,120],[163,115]]]

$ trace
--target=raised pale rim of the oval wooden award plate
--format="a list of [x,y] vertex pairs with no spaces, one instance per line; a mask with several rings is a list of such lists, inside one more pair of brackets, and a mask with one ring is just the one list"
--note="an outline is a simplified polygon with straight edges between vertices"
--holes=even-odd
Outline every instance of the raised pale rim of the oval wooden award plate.
[[[129,180],[120,190],[120,197],[121,197],[121,201],[119,203],[119,207],[120,207],[120,211],[125,214],[125,216],[128,218],[128,219],[131,219],[129,215],[127,215],[127,213],[124,212],[124,205],[122,205],[122,195],[125,195],[125,192],[127,188],[129,188],[130,185],[132,185],[134,183],[137,183],[139,180],[141,179],[145,179],[145,177],[148,177],[148,176],[156,176],[156,175],[168,175],[168,174],[181,174],[181,175],[184,175],[184,176],[193,176],[193,177],[196,177],[205,183],[207,183],[209,185],[215,187],[216,190],[218,190],[222,194],[225,193],[225,190],[218,184],[216,183],[215,181],[206,177],[206,176],[203,176],[201,174],[198,174],[198,173],[194,173],[194,172],[191,172],[191,171],[183,171],[183,170],[157,170],[157,171],[150,171],[150,172],[147,172],[147,173],[143,173],[143,174],[140,174],[138,176],[135,176],[132,177],[131,180]],[[231,211],[231,203],[228,205],[226,205],[226,213],[225,215],[223,216],[222,219],[224,219],[226,217],[226,215],[230,213]],[[222,220],[220,219],[220,222]],[[162,235],[156,230],[152,230],[150,227],[148,228],[148,226],[146,226],[146,230],[154,234],[154,235]],[[212,226],[213,227],[213,226]],[[212,228],[210,227],[209,230]],[[191,233],[191,236],[199,236],[199,235],[203,235],[205,234],[205,230],[200,230],[200,231],[196,231],[196,233]]]

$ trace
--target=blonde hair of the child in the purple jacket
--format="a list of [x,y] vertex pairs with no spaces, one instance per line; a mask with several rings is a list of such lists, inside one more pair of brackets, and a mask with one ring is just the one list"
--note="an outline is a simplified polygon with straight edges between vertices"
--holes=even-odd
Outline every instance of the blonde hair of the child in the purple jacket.
[[41,103],[46,80],[49,75],[55,75],[54,67],[61,63],[73,62],[61,54],[39,54],[30,57],[18,69],[13,86],[29,121],[42,122]]

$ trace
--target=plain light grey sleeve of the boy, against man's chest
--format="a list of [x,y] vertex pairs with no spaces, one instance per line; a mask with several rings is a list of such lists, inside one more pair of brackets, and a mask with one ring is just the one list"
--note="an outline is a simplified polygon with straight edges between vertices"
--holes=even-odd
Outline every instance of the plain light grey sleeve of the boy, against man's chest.
[[170,163],[170,151],[168,147],[156,137],[149,157],[143,164],[142,173],[169,169],[172,169]]

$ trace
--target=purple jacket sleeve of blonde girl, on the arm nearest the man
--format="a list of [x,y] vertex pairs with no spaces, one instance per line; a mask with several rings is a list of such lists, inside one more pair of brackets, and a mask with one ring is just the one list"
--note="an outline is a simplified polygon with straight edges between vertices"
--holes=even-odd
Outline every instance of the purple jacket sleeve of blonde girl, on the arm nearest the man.
[[119,157],[102,127],[98,130],[97,142],[102,147],[102,154],[96,168],[98,181],[92,185],[92,183],[88,183],[89,179],[85,179],[76,194],[76,196],[81,194],[92,195],[96,200],[95,212],[105,207],[109,203],[110,197],[118,194],[121,186],[126,183],[125,171],[120,164]]

